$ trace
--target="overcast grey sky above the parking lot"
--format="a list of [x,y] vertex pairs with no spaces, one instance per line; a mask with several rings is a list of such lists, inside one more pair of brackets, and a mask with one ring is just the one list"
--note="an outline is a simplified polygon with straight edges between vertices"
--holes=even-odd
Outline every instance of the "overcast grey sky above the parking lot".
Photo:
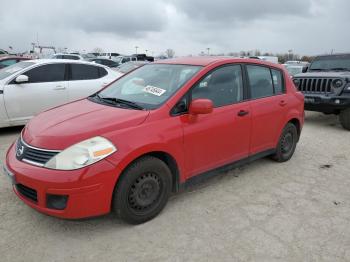
[[0,8],[0,48],[41,45],[124,54],[259,49],[350,51],[349,0],[13,0]]

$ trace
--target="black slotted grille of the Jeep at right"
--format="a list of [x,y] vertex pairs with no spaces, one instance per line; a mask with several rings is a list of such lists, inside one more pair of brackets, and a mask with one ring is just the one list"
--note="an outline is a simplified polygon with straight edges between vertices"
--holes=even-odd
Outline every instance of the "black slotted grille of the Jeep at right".
[[299,80],[297,88],[303,93],[331,94],[333,78],[296,78]]

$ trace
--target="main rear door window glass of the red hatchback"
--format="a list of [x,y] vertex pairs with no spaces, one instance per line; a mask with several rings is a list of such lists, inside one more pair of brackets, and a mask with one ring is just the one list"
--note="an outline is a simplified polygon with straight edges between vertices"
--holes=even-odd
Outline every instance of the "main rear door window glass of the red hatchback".
[[263,66],[247,65],[251,98],[268,97],[274,94],[270,69]]

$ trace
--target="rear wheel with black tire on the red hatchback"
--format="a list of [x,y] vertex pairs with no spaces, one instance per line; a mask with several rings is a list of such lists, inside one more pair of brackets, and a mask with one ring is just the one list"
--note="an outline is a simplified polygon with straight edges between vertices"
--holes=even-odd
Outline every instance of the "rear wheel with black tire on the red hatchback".
[[272,155],[272,159],[277,162],[286,162],[294,154],[298,142],[298,131],[295,125],[288,123],[280,136],[276,147],[276,153]]

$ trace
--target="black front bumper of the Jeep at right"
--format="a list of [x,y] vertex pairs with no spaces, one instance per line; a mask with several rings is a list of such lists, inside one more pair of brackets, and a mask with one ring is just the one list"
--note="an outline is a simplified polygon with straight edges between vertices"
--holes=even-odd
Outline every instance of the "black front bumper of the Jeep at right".
[[305,110],[325,113],[350,108],[350,96],[324,96],[305,94]]

